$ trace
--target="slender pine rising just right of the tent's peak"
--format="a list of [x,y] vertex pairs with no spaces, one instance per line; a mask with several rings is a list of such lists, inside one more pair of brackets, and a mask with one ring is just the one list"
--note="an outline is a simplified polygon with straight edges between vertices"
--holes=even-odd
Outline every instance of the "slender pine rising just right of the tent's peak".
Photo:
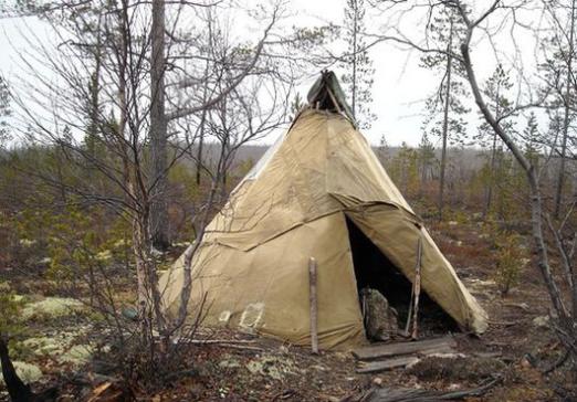
[[347,0],[344,20],[347,51],[342,56],[340,67],[345,71],[342,80],[349,93],[353,117],[358,127],[368,129],[376,119],[370,112],[375,68],[363,39],[365,11],[365,0]]

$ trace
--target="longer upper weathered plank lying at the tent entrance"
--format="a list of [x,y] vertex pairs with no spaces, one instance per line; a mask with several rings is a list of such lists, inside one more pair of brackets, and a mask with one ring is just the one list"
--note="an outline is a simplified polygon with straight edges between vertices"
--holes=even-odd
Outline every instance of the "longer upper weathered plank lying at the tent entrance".
[[443,337],[437,339],[419,340],[416,342],[399,342],[378,346],[369,346],[353,350],[353,355],[358,360],[374,360],[392,356],[402,356],[411,353],[431,355],[436,349],[447,352],[448,349],[457,348],[453,337]]

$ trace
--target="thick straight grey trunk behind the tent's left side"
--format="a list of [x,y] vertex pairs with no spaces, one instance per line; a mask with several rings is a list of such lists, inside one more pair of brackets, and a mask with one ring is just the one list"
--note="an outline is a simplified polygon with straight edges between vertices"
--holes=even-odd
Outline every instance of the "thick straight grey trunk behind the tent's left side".
[[153,245],[166,250],[168,236],[167,118],[165,115],[165,0],[153,0],[150,53],[150,154],[153,186],[150,233]]

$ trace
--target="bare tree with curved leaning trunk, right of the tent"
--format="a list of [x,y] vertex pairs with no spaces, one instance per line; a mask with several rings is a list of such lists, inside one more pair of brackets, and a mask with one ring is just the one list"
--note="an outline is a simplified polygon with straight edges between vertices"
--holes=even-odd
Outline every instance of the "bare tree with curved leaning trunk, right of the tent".
[[[463,66],[479,112],[482,114],[487,125],[494,130],[496,136],[503,141],[525,173],[529,189],[528,201],[532,216],[532,234],[535,251],[538,256],[537,266],[550,297],[553,318],[555,322],[554,328],[559,340],[567,350],[566,356],[571,358],[573,367],[575,368],[577,364],[577,286],[575,286],[576,274],[573,267],[573,250],[576,236],[573,236],[571,241],[562,235],[564,230],[566,230],[568,216],[573,213],[573,208],[569,208],[569,211],[562,220],[559,228],[554,228],[550,220],[548,220],[544,207],[543,190],[539,183],[539,171],[534,161],[527,158],[527,155],[523,150],[524,138],[523,136],[517,136],[515,133],[507,130],[506,126],[503,125],[503,120],[506,118],[510,118],[521,110],[537,107],[544,104],[544,99],[543,97],[535,99],[529,96],[529,98],[524,103],[518,100],[516,105],[511,107],[508,113],[502,114],[499,117],[495,116],[494,110],[489,107],[486,95],[479,85],[478,72],[472,59],[472,50],[478,43],[473,38],[478,38],[476,35],[484,35],[485,38],[489,38],[489,40],[494,40],[494,35],[500,32],[499,29],[504,30],[503,27],[506,25],[505,21],[507,21],[507,18],[511,18],[510,21],[512,21],[512,25],[507,27],[508,32],[513,32],[513,35],[517,30],[524,30],[529,34],[534,34],[534,31],[528,30],[531,24],[524,24],[515,18],[515,15],[518,15],[518,12],[526,7],[534,7],[535,4],[541,3],[531,1],[507,2],[505,0],[494,0],[486,8],[481,10],[479,8],[474,9],[471,4],[461,0],[443,0],[437,3],[419,0],[407,2],[384,1],[381,3],[387,6],[388,12],[395,9],[398,12],[397,15],[402,17],[408,15],[408,12],[422,10],[427,18],[427,15],[431,15],[436,9],[444,8],[450,10],[450,12],[453,12],[459,18],[459,22],[464,27],[464,35],[460,40],[458,47],[459,51],[451,52],[451,56],[455,61],[459,61]],[[491,27],[495,25],[499,27],[497,32],[491,29]],[[426,40],[410,38],[409,35],[398,31],[396,31],[396,34],[394,35],[380,35],[379,40],[395,41],[396,43],[407,45],[410,49],[417,49],[424,53],[448,53],[448,50],[444,47],[428,46]],[[522,72],[522,68],[518,67],[517,71]],[[525,83],[526,80],[522,80],[521,82]],[[545,92],[545,94],[547,94],[547,92]],[[531,95],[531,93],[528,95]],[[548,146],[556,147],[555,144],[549,144]],[[547,226],[550,228],[554,237],[555,251],[560,255],[560,258],[555,262],[555,264],[558,264],[560,267],[559,276],[554,275],[552,268],[550,251],[546,242]],[[560,292],[560,283],[568,285],[569,292],[567,294]]]

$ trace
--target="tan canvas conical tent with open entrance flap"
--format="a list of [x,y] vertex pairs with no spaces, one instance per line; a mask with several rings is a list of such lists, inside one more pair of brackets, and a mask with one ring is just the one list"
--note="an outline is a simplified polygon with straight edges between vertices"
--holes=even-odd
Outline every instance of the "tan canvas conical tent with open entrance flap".
[[[358,282],[386,283],[391,267],[413,281],[421,239],[423,292],[460,327],[483,332],[486,314],[346,117],[329,74],[209,224],[192,260],[191,319],[206,297],[204,325],[310,345],[308,261],[315,257],[321,348],[357,346],[366,341]],[[388,267],[355,266],[368,257],[367,248],[354,255],[359,235]],[[172,314],[182,264],[180,257],[160,279]]]

